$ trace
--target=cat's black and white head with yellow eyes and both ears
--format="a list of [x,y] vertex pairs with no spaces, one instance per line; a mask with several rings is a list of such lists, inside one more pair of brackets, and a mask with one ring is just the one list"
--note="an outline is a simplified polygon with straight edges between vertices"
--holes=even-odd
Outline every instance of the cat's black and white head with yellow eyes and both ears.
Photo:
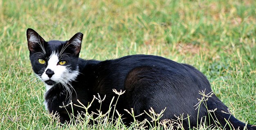
[[57,83],[74,81],[78,72],[78,58],[81,50],[82,33],[70,40],[45,41],[33,29],[27,29],[29,58],[36,75],[46,84],[47,90]]

